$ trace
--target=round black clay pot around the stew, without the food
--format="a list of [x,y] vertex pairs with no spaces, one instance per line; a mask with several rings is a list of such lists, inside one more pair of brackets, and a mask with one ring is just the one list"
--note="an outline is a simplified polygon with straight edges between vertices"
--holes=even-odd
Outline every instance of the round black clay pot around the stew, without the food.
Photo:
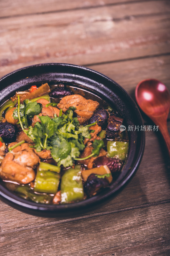
[[[60,81],[69,84],[78,84],[79,88],[90,91],[100,96],[103,100],[106,100],[124,118],[126,127],[129,125],[134,127],[135,125],[139,127],[143,125],[137,105],[119,84],[92,69],[70,64],[38,64],[15,70],[3,76],[0,79],[0,102],[2,104],[14,95],[16,91],[27,89],[33,84],[46,82],[55,84]],[[117,180],[111,184],[109,189],[104,190],[102,194],[74,204],[47,205],[29,202],[14,195],[0,185],[0,196],[4,202],[18,210],[37,215],[54,216],[54,214],[60,212],[91,209],[92,205],[101,202],[120,189],[137,170],[144,152],[145,134],[142,131],[129,131],[128,136],[129,151],[127,161]]]

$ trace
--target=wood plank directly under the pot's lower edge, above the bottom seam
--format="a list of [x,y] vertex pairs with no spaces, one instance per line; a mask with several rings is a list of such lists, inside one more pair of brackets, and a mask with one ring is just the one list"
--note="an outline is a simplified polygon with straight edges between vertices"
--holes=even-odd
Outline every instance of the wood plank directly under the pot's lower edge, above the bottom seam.
[[[169,123],[170,131],[170,123]],[[165,146],[161,142],[159,132],[146,132],[146,146],[144,156],[136,174],[129,184],[119,193],[97,205],[96,207],[67,216],[56,216],[49,219],[31,216],[19,212],[3,202],[0,203],[0,226],[3,232],[17,231],[18,228],[33,227],[34,225],[53,223],[56,220],[67,220],[89,214],[100,214],[108,211],[121,211],[127,207],[150,204],[170,199],[170,173],[167,170]]]

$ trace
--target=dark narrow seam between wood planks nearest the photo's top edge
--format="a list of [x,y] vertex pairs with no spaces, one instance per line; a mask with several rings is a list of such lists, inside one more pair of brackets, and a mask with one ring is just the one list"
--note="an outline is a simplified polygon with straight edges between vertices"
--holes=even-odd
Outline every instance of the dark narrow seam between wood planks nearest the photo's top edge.
[[104,4],[104,5],[95,5],[95,6],[82,6],[78,8],[72,8],[72,9],[61,9],[61,10],[55,10],[55,11],[48,11],[48,12],[33,12],[33,13],[25,13],[25,14],[16,14],[16,15],[9,15],[9,16],[2,16],[0,19],[8,19],[8,18],[14,18],[14,17],[24,17],[29,15],[41,15],[41,14],[50,14],[50,13],[58,13],[58,12],[69,12],[69,11],[78,11],[78,10],[84,10],[84,9],[95,9],[95,8],[103,8],[103,7],[109,7],[109,6],[115,6],[115,5],[125,5],[125,4],[134,4],[134,3],[145,3],[145,2],[163,2],[164,0],[136,0],[136,1],[128,1],[128,2],[117,2],[117,3],[110,3],[110,4]]

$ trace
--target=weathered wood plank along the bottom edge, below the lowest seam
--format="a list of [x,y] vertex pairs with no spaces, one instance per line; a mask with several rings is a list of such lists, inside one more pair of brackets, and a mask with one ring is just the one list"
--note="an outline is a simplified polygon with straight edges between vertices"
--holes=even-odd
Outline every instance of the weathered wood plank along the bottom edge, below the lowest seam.
[[2,256],[168,255],[169,204],[1,233]]

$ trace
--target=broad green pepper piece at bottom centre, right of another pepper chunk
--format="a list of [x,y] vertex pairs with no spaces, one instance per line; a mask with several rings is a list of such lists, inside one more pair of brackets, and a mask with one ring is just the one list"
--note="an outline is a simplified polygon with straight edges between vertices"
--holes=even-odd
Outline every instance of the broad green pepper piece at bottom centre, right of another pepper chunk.
[[69,203],[83,200],[83,182],[81,179],[81,165],[68,169],[61,179],[61,203]]

